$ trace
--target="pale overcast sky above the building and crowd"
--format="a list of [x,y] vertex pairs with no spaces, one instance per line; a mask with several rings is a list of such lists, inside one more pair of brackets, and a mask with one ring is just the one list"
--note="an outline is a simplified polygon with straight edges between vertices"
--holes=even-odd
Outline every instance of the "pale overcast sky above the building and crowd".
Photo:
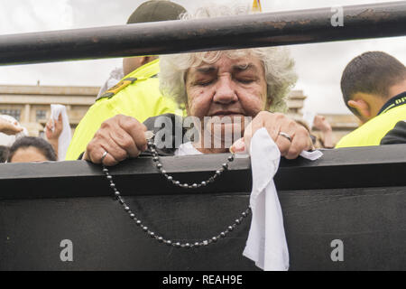
[[[189,11],[203,1],[173,0]],[[213,1],[229,4],[228,0]],[[384,0],[262,0],[263,12],[358,5]],[[0,34],[30,33],[124,24],[143,0],[0,0]],[[239,3],[252,4],[252,0]],[[364,51],[385,51],[406,63],[406,37],[291,46],[299,81],[308,96],[305,109],[349,113],[339,80],[346,63]],[[0,67],[0,84],[101,86],[121,59],[70,61]]]

